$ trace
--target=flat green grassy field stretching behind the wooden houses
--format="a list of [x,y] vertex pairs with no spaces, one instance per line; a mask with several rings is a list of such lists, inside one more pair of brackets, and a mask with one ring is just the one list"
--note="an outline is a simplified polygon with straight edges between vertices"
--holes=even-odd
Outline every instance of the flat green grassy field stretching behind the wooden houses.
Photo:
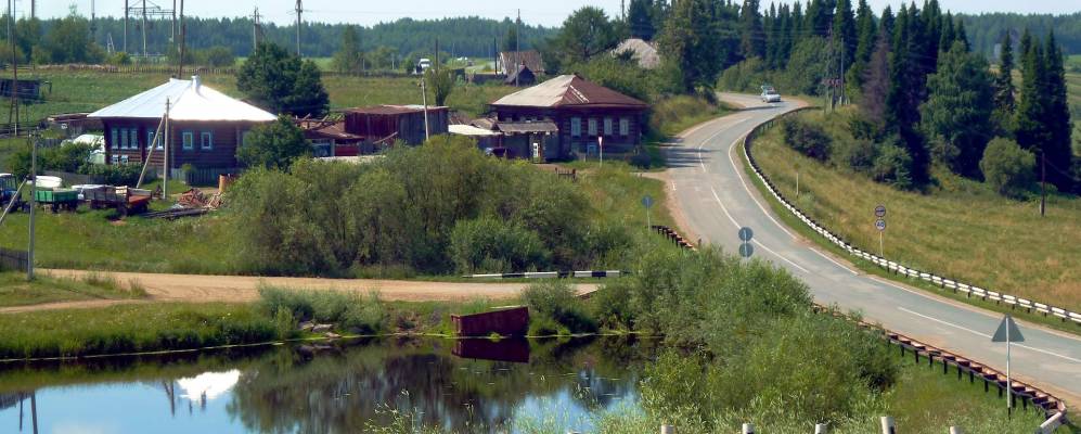
[[[4,73],[3,77],[10,77]],[[169,79],[167,74],[116,74],[102,72],[68,72],[68,71],[21,71],[20,78],[40,79],[52,84],[43,86],[42,102],[27,103],[21,106],[20,118],[37,120],[57,113],[91,112],[144,90],[158,86]],[[236,79],[231,75],[208,75],[203,77],[207,85],[233,97],[242,98],[236,90]],[[415,77],[400,78],[366,78],[327,75],[323,85],[331,97],[331,108],[342,110],[372,104],[420,104],[422,103],[420,82]],[[506,86],[461,85],[451,93],[447,103],[454,110],[461,110],[472,115],[487,111],[487,104],[513,92],[515,89]],[[433,97],[428,95],[428,103]],[[7,122],[10,107],[5,104],[0,108],[0,123]]]

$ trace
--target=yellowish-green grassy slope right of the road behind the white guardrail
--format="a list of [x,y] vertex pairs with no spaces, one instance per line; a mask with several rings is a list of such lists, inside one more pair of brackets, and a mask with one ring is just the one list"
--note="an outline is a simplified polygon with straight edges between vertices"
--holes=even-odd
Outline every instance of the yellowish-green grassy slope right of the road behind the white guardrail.
[[[821,113],[806,114],[823,122]],[[827,131],[838,125],[824,123]],[[927,194],[903,192],[823,165],[783,143],[780,128],[755,142],[755,157],[788,197],[859,247],[878,252],[874,208],[888,208],[886,256],[993,291],[1081,309],[1081,199],[1004,199],[986,186],[936,170]]]

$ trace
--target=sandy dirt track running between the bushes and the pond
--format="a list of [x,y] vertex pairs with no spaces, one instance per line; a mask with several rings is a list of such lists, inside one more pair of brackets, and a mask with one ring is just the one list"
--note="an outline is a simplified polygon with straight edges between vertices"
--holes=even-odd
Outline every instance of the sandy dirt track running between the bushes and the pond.
[[[55,277],[81,278],[89,271],[41,270]],[[386,301],[450,302],[471,298],[505,299],[514,297],[528,283],[450,283],[415,282],[402,280],[265,278],[246,276],[156,275],[142,272],[108,272],[107,276],[128,283],[138,281],[146,290],[147,298],[137,301],[83,301],[49,303],[35,306],[0,308],[0,314],[35,310],[95,308],[119,304],[155,302],[185,303],[247,303],[258,298],[258,286],[268,284],[306,290],[355,291],[366,294],[378,291]],[[579,293],[595,291],[597,284],[578,284]]]

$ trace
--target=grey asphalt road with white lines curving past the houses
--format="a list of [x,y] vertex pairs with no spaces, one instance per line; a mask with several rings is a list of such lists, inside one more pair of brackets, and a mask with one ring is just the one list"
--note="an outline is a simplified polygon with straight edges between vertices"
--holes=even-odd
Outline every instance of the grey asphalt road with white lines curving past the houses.
[[[763,104],[755,97],[723,94],[748,110],[703,124],[667,149],[669,193],[685,228],[704,243],[735,253],[739,227],[755,231],[755,257],[807,282],[822,304],[862,311],[864,318],[943,349],[1005,371],[1005,344],[992,344],[1000,314],[864,275],[786,228],[744,171],[739,142],[755,126],[796,103]],[[1081,405],[1081,339],[1019,322],[1026,341],[1014,344],[1015,378]]]

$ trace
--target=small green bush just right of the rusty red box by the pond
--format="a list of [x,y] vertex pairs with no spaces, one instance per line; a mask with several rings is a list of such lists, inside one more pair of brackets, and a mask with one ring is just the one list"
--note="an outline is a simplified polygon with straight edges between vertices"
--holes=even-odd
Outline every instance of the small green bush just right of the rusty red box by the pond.
[[596,322],[591,318],[575,289],[561,281],[535,283],[522,292],[522,299],[529,306],[529,334],[592,333]]

